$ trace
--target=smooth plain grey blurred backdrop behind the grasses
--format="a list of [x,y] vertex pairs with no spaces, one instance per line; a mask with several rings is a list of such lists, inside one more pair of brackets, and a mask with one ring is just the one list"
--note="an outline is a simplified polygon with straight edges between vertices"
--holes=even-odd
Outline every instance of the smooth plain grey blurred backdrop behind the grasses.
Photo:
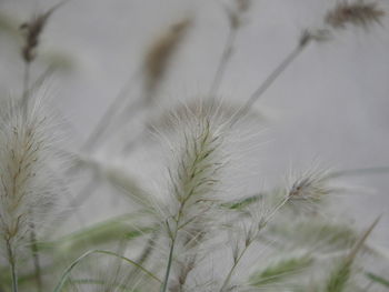
[[[226,6],[231,2],[72,0],[56,10],[40,38],[31,75],[39,75],[48,63],[57,67],[48,87],[73,148],[84,142],[123,87],[129,88],[129,100],[137,99],[148,48],[186,18],[192,18],[191,27],[169,62],[156,107],[169,108],[207,94],[229,34]],[[57,3],[0,0],[2,94],[20,94],[23,62],[18,27]],[[243,103],[293,50],[301,32],[320,27],[335,3],[253,0],[245,12],[218,95]],[[387,0],[380,6],[389,11]],[[271,188],[290,169],[303,169],[317,160],[335,170],[389,167],[388,29],[386,17],[367,29],[338,30],[329,41],[309,44],[277,79],[255,104],[263,124],[250,147],[256,168],[250,170],[255,180],[247,190]],[[133,121],[134,129],[141,122]],[[142,154],[131,161],[133,170],[147,165]],[[338,198],[338,212],[362,226],[382,214],[372,238],[388,246],[389,172],[361,172],[342,178],[341,183],[349,191]],[[111,209],[96,197],[82,210],[99,218],[120,208],[109,205]]]

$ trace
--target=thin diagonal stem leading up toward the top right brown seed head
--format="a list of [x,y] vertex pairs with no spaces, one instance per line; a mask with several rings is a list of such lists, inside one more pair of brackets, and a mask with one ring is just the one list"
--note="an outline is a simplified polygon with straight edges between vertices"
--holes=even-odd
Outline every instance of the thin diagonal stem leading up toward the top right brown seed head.
[[265,81],[259,85],[259,88],[252,92],[248,101],[240,108],[240,110],[232,117],[231,127],[248,111],[252,105],[259,100],[260,97],[271,87],[271,84],[277,80],[277,78],[297,59],[297,57],[307,48],[310,40],[306,42],[300,42],[283,60],[282,62],[265,79]]

